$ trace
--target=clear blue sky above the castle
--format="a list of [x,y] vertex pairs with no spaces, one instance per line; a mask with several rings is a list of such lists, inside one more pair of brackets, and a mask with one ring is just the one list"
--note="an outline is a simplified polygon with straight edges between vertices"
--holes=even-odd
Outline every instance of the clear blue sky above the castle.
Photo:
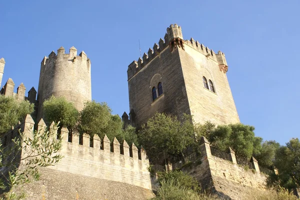
[[[299,0],[2,0],[2,84],[37,90],[43,56],[75,46],[91,60],[92,98],[128,113],[127,66],[177,23],[225,53],[227,77],[244,124],[280,144],[299,137]],[[15,90],[16,90],[15,87]]]

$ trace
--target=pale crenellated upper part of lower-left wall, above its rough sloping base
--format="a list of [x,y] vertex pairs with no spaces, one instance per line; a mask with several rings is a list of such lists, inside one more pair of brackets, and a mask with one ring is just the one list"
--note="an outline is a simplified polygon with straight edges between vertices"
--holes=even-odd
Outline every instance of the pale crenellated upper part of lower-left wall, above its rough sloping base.
[[[24,136],[30,137],[33,127],[37,131],[45,131],[48,127],[57,135],[54,122],[47,126],[40,119],[35,124],[31,116],[27,115],[22,123],[6,134],[5,145],[11,143],[18,129],[24,132]],[[106,135],[103,138],[94,135],[90,139],[87,134],[80,136],[78,133],[70,133],[66,128],[61,129],[58,137],[62,140],[59,154],[63,159],[47,168],[151,189],[149,161],[144,149],[139,150],[134,144],[129,146],[126,141],[120,144],[116,138],[111,142]]]

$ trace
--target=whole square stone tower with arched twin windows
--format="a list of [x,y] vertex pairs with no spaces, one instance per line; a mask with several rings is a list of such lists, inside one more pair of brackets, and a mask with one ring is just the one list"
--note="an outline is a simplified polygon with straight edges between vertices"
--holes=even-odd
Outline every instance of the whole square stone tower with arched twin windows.
[[238,123],[227,69],[224,53],[184,40],[181,27],[171,24],[164,40],[128,66],[131,123],[139,128],[156,111],[190,114],[196,123]]

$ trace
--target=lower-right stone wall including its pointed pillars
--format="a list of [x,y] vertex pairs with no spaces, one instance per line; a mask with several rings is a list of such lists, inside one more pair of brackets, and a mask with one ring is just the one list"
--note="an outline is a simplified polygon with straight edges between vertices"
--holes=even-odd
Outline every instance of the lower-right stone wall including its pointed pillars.
[[244,200],[257,190],[265,191],[267,175],[262,173],[255,158],[239,165],[235,153],[216,152],[206,138],[201,138],[200,163],[183,167],[183,171],[194,177],[203,189],[211,190],[221,197]]

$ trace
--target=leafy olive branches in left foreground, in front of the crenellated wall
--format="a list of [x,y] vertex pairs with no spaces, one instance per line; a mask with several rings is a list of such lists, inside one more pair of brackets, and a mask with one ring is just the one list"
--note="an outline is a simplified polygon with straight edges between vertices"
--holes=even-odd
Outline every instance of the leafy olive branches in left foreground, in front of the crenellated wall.
[[[23,193],[16,195],[9,190],[12,187],[28,184],[38,180],[38,167],[54,165],[62,158],[57,152],[61,148],[61,140],[56,140],[54,131],[40,130],[39,132],[19,133],[7,143],[0,145],[0,189],[8,191],[0,196],[3,199],[21,199]],[[22,163],[22,167],[18,167]]]

